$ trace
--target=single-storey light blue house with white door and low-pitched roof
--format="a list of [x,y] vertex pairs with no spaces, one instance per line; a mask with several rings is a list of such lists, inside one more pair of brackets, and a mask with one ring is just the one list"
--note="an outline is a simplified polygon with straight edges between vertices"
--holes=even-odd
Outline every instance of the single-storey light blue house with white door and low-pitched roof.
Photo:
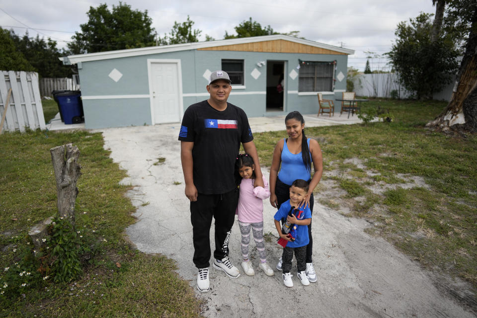
[[317,113],[317,92],[334,99],[346,90],[349,54],[354,51],[267,35],[61,59],[78,65],[85,128],[106,128],[180,122],[187,106],[208,97],[216,70],[229,73],[229,102],[249,117]]

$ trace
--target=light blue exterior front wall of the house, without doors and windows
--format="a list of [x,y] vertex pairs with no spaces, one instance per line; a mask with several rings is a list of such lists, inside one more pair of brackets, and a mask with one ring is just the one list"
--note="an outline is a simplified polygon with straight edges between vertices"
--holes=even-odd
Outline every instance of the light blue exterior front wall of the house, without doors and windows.
[[[298,76],[290,78],[290,72],[303,61],[336,61],[335,78],[339,72],[345,76],[341,81],[335,81],[335,92],[325,95],[325,98],[341,97],[341,91],[346,89],[347,55],[328,54],[296,54],[296,53],[262,53],[236,51],[207,51],[189,50],[125,57],[109,60],[82,62],[79,68],[81,95],[86,128],[122,127],[130,125],[150,125],[151,105],[149,98],[148,59],[180,60],[182,93],[184,110],[187,106],[207,99],[207,80],[203,78],[206,70],[216,71],[222,68],[223,59],[244,60],[243,89],[233,89],[229,102],[241,107],[249,117],[287,114],[298,110],[303,114],[318,112],[317,95],[298,94]],[[258,67],[260,61],[285,62],[285,92],[283,111],[266,110],[266,77],[267,66]],[[123,75],[118,82],[108,77],[117,69]],[[251,76],[254,69],[261,74],[257,79]],[[232,83],[234,86],[234,84]],[[338,91],[336,91],[338,90]],[[90,99],[91,96],[105,95],[144,95],[135,98]],[[89,97],[88,97],[89,96]],[[93,97],[95,98],[95,97]],[[339,111],[335,103],[335,112]]]

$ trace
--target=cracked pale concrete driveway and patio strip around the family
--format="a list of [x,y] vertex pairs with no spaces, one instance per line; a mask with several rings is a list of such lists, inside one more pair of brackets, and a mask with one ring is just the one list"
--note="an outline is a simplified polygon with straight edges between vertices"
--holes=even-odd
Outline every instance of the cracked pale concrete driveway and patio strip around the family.
[[[337,118],[337,119],[336,119]],[[284,131],[284,117],[250,118],[252,132]],[[307,126],[356,123],[356,116],[305,116]],[[135,185],[128,196],[138,208],[137,223],[126,229],[131,241],[146,253],[161,253],[177,262],[178,274],[196,290],[192,263],[192,226],[184,195],[180,164],[180,124],[103,129],[105,148],[127,170],[122,183]],[[165,158],[158,163],[158,158]],[[268,176],[266,168],[263,172]],[[318,197],[318,195],[316,196]],[[273,209],[264,201],[264,233],[268,261],[275,268],[281,248],[275,241]],[[475,317],[452,297],[436,289],[433,275],[420,268],[387,241],[367,235],[365,221],[342,216],[315,202],[314,264],[318,282],[286,288],[281,273],[268,277],[258,270],[254,242],[250,256],[255,276],[231,279],[210,267],[211,291],[198,293],[206,317]],[[211,229],[214,249],[214,227]],[[237,222],[230,240],[230,258],[240,267]],[[293,261],[292,273],[296,271]]]

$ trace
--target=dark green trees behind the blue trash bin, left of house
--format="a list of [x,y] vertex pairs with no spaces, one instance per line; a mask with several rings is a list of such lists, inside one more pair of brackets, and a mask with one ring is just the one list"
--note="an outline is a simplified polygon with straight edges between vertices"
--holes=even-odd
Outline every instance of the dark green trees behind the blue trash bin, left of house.
[[15,43],[18,51],[28,60],[40,77],[44,78],[65,78],[71,77],[71,67],[64,66],[59,60],[65,52],[60,52],[56,47],[56,41],[44,40],[37,35],[30,39],[28,32],[19,37],[13,31],[10,31],[10,37]]

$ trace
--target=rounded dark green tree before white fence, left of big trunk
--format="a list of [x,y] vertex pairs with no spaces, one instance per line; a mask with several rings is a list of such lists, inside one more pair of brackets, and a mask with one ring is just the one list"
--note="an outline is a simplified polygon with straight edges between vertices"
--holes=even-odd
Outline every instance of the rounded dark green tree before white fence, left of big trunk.
[[395,32],[396,44],[386,53],[403,86],[418,99],[432,98],[452,81],[450,74],[457,70],[458,50],[453,34],[439,34],[432,41],[431,15],[421,13],[409,19],[410,25],[400,22]]

